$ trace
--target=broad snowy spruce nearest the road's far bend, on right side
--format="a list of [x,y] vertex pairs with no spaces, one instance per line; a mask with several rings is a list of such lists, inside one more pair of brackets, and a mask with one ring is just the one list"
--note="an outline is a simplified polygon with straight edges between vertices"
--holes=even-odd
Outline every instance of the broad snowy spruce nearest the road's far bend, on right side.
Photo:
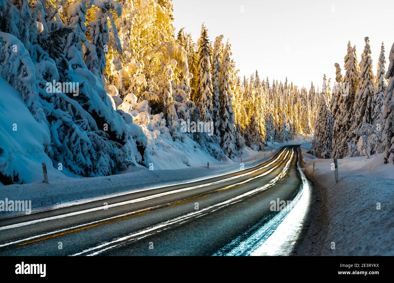
[[332,151],[333,119],[325,94],[320,95],[312,151],[319,158],[330,158]]

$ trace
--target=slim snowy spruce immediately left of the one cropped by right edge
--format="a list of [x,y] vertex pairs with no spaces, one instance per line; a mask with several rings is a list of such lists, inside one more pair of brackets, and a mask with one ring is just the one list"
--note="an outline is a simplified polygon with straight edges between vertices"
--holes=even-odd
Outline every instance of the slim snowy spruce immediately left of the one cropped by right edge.
[[374,123],[374,125],[376,125],[377,120],[379,120],[379,118],[383,117],[383,99],[385,97],[386,87],[387,87],[387,80],[386,80],[385,45],[382,42],[379,60],[377,62],[376,90],[374,93],[375,109],[372,114],[372,122]]

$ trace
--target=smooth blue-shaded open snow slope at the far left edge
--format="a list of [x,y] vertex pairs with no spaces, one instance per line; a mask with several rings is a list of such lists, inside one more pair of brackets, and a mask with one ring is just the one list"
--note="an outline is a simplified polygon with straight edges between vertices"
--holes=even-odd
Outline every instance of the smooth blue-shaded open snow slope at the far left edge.
[[48,128],[33,118],[19,93],[1,77],[0,91],[4,94],[0,95],[0,182],[9,182],[6,176],[14,176],[15,183],[41,181],[41,162],[48,165],[51,179],[64,179],[67,169],[63,173],[54,169],[45,153],[44,144],[50,140]]

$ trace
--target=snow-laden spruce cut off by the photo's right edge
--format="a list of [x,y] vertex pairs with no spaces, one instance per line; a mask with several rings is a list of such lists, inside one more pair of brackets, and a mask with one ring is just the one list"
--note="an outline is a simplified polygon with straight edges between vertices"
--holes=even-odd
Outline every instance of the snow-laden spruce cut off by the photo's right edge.
[[388,56],[390,64],[386,73],[386,79],[388,85],[385,91],[385,99],[383,101],[384,112],[384,127],[382,143],[385,145],[384,162],[394,164],[394,43],[391,47],[390,54]]

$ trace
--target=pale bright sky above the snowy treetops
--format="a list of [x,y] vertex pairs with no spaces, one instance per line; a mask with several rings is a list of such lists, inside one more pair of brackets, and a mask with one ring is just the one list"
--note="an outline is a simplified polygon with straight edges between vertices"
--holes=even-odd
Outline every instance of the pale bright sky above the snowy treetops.
[[325,73],[335,80],[334,63],[344,74],[350,40],[361,60],[364,37],[370,38],[374,71],[381,42],[388,53],[394,42],[392,0],[173,0],[176,33],[185,27],[197,42],[205,22],[209,39],[229,38],[240,74],[256,69],[298,86],[313,81],[322,89]]

